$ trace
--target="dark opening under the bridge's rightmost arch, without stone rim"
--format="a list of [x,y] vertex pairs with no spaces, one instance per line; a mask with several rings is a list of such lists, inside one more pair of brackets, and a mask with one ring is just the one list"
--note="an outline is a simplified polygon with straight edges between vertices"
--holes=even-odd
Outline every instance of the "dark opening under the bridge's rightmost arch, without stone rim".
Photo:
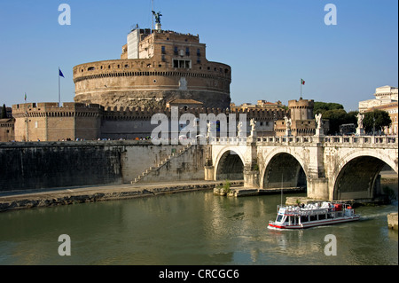
[[[387,196],[387,192],[381,185],[382,172],[393,172],[385,161],[372,156],[360,156],[348,161],[340,169],[340,173],[334,183],[334,200],[359,200],[376,199]],[[396,189],[397,191],[397,189]],[[397,193],[397,192],[394,192]]]

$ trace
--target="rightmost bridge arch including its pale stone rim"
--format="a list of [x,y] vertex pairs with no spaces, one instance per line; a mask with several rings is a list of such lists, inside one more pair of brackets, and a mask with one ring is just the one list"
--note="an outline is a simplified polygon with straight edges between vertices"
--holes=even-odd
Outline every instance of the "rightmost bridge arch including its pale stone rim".
[[379,172],[385,165],[397,169],[396,161],[380,150],[356,151],[343,156],[332,172],[331,200],[373,199]]

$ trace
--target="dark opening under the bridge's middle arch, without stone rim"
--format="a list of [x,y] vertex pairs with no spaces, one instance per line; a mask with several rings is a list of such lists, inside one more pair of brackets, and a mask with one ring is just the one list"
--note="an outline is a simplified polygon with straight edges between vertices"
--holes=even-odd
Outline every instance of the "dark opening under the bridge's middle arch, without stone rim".
[[306,174],[299,161],[289,153],[278,153],[264,172],[263,188],[306,187]]

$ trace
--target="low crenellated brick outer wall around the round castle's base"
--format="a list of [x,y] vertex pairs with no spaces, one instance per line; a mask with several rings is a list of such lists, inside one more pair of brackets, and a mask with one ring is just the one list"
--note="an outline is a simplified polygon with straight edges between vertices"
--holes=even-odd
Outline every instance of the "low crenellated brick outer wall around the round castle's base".
[[[151,124],[154,114],[166,114],[169,121],[171,111],[165,108],[141,108],[98,104],[64,103],[27,103],[12,106],[15,118],[16,141],[62,141],[76,139],[134,139],[151,136],[157,125]],[[222,108],[178,108],[182,114],[246,114],[246,130],[249,133],[250,119],[255,119],[259,136],[273,136],[273,120],[280,120],[286,115],[283,108],[275,109],[222,109]],[[7,139],[4,141],[9,141]]]

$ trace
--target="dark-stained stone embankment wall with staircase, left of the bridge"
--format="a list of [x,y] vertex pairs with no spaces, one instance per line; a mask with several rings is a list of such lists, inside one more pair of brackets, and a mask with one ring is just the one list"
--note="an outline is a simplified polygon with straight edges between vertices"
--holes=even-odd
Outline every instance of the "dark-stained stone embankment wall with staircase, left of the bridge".
[[0,143],[0,192],[130,184],[151,168],[140,183],[204,180],[204,156],[146,140]]

